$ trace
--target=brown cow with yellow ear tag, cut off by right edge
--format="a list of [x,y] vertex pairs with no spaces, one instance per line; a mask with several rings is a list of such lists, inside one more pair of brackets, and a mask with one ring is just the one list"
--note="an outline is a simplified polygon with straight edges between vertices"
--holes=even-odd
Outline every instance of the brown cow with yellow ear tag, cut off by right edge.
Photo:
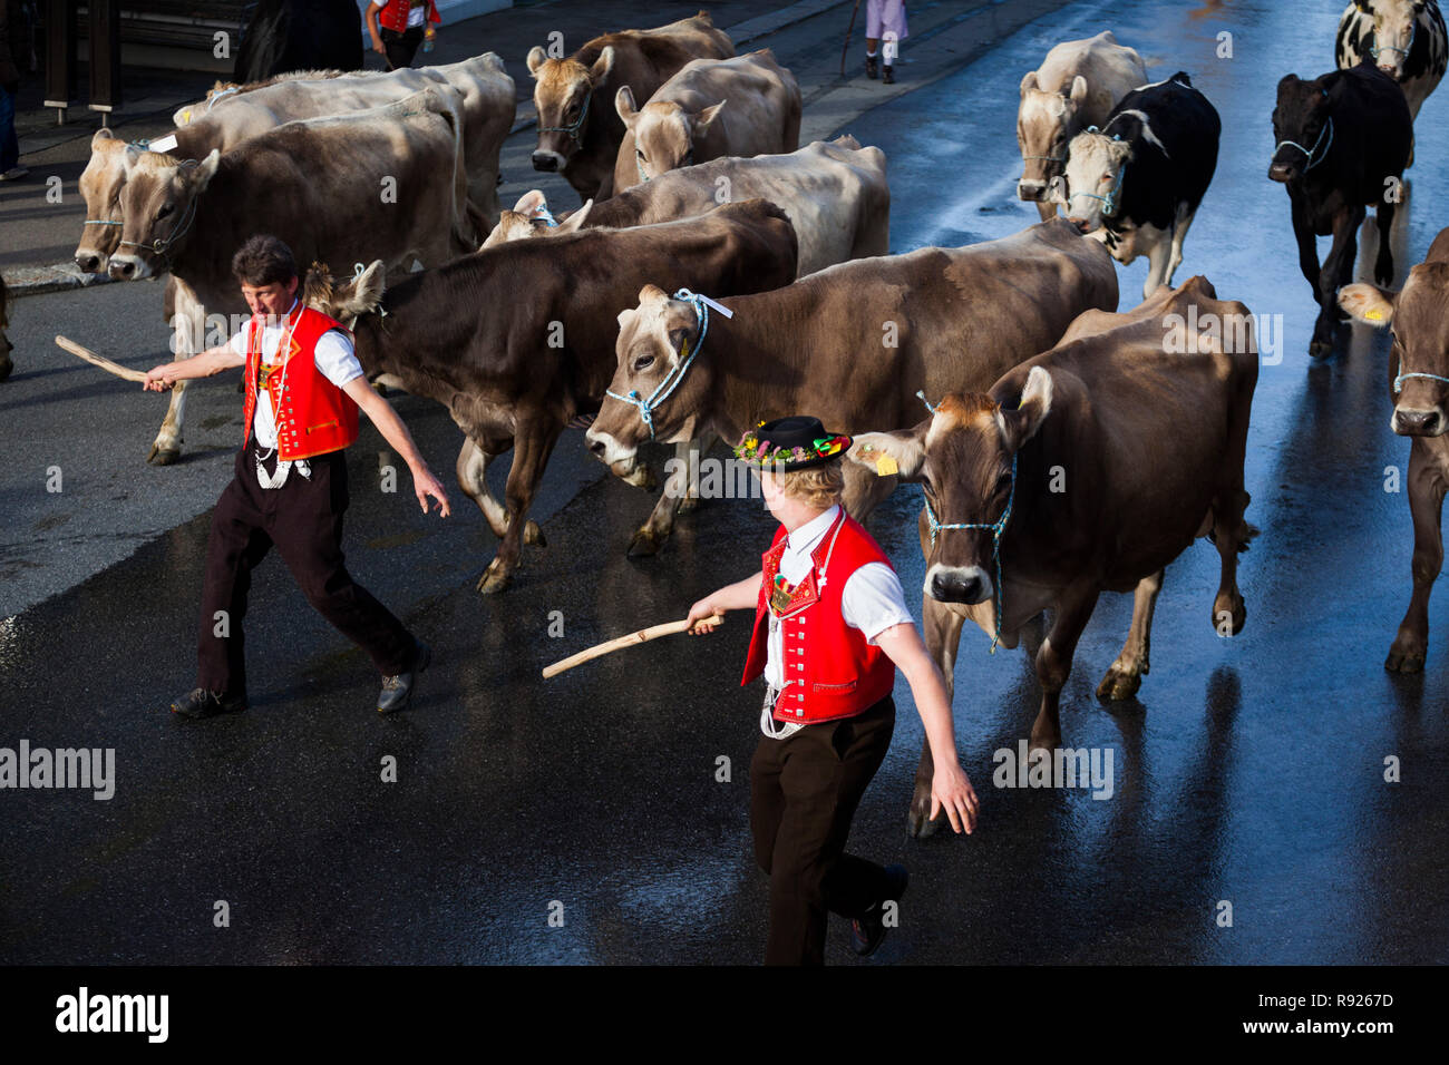
[[1388,649],[1384,668],[1421,672],[1429,652],[1429,593],[1443,567],[1440,529],[1449,490],[1449,229],[1442,229],[1429,255],[1408,271],[1403,290],[1346,285],[1339,304],[1359,322],[1394,330],[1388,368],[1394,432],[1408,436],[1408,510],[1414,517],[1414,593]]

